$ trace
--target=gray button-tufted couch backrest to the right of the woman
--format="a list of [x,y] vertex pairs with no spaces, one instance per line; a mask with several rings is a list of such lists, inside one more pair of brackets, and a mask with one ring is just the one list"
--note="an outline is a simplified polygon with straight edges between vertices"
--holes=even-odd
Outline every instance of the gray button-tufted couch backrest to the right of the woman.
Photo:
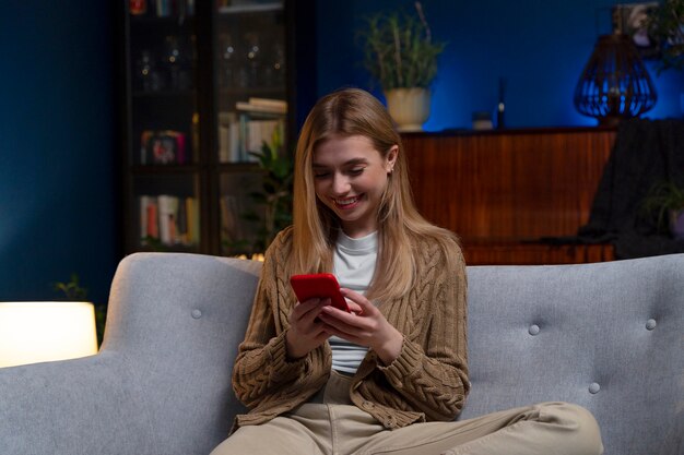
[[468,277],[462,418],[573,402],[594,414],[606,455],[684,454],[684,254]]

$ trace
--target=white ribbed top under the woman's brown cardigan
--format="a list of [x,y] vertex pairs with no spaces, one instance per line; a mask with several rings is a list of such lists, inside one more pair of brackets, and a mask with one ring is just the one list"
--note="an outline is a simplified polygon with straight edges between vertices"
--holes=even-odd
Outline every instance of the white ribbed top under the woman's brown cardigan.
[[[359,239],[352,239],[340,231],[333,253],[333,273],[340,282],[340,286],[362,295],[366,294],[375,273],[377,255],[377,232]],[[338,336],[331,336],[329,343],[332,348],[332,369],[354,374],[368,348]]]

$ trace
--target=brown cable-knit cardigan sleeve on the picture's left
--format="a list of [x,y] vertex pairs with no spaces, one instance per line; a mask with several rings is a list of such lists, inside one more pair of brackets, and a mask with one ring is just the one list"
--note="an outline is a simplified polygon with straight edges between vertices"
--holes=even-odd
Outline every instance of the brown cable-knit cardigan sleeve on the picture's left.
[[305,376],[310,359],[287,358],[285,328],[290,308],[288,286],[279,270],[283,264],[284,238],[279,236],[269,248],[255,296],[245,340],[239,345],[233,369],[233,388],[238,399],[255,408],[264,399],[287,395],[296,380]]

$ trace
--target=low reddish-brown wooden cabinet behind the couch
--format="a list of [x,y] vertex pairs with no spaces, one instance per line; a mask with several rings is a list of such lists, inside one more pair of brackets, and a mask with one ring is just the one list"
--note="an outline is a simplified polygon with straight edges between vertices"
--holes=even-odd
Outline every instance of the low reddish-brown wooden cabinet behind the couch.
[[610,246],[551,244],[587,223],[614,129],[404,134],[416,205],[457,232],[469,264],[613,259]]

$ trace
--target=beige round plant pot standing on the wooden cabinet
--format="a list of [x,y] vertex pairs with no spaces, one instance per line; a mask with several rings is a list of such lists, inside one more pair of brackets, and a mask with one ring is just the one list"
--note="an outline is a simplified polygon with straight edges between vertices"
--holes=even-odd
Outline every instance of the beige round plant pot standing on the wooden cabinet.
[[429,117],[429,89],[393,88],[385,92],[387,109],[401,132],[423,131]]

